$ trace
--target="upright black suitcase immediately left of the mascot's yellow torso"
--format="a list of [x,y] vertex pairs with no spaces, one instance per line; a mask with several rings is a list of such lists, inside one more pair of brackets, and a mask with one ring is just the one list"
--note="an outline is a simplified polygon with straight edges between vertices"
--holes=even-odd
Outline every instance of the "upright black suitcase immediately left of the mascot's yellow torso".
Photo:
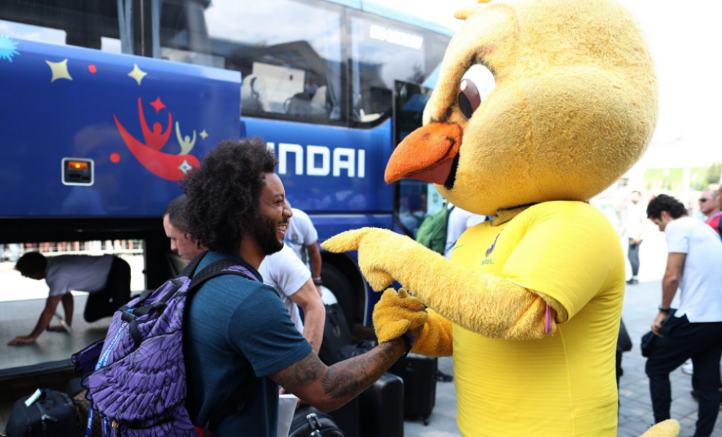
[[404,414],[421,416],[429,424],[436,404],[436,370],[438,358],[409,353],[391,366],[388,371],[404,380]]

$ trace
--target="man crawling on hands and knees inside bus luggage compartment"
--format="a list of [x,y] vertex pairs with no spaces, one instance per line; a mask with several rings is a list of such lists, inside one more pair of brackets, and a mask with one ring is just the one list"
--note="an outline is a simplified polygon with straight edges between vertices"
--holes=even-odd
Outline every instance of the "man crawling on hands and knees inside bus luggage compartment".
[[8,345],[32,343],[45,329],[63,331],[64,327],[49,326],[61,301],[65,312],[65,323],[71,326],[73,322],[71,290],[90,293],[83,313],[83,318],[87,322],[112,316],[118,308],[131,299],[130,265],[113,255],[100,257],[61,255],[46,258],[38,252],[28,252],[17,260],[15,270],[26,278],[38,281],[45,279],[50,292],[35,329],[30,335],[15,337]]

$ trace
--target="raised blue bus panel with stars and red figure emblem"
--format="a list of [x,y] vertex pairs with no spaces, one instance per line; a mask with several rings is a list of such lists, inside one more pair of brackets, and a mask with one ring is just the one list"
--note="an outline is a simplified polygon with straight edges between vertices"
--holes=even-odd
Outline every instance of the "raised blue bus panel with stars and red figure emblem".
[[[238,71],[14,42],[12,62],[0,59],[0,216],[159,216],[179,193],[178,167],[238,137]],[[64,158],[92,159],[93,184],[64,185]]]

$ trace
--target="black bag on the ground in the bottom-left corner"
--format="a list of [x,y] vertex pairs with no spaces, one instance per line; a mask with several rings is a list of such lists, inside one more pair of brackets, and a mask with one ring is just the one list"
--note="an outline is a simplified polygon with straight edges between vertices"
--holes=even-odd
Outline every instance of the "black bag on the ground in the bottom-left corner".
[[78,412],[67,394],[43,389],[30,407],[25,401],[15,402],[5,427],[8,437],[75,437],[81,436],[84,425],[78,420]]

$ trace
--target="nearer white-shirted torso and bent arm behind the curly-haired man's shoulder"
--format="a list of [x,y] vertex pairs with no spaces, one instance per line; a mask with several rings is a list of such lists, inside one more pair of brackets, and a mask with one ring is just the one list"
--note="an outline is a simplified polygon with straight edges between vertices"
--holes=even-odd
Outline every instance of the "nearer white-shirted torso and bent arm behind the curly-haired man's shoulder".
[[[261,273],[266,285],[279,291],[296,329],[318,353],[323,339],[326,307],[323,306],[321,296],[313,285],[308,268],[290,247],[284,245],[279,252],[264,258],[258,273]],[[305,326],[298,311],[299,306],[303,309]]]

